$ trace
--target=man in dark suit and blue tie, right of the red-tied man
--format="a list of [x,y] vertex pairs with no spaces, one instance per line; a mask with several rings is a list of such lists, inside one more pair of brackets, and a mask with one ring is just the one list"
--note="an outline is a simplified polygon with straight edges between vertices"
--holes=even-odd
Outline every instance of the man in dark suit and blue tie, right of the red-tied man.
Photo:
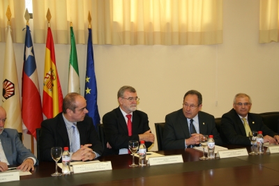
[[213,135],[216,145],[222,140],[216,129],[215,119],[202,109],[202,94],[188,91],[183,98],[183,108],[167,114],[163,146],[165,150],[190,148],[199,144],[200,135]]

